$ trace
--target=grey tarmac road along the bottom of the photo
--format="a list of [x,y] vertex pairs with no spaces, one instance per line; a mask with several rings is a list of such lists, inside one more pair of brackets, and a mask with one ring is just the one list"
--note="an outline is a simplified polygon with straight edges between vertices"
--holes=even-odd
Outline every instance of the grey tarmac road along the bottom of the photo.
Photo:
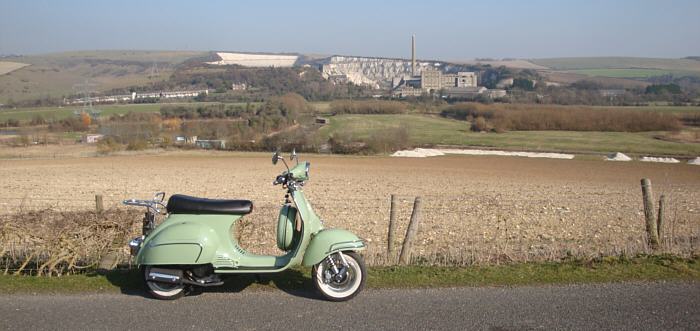
[[0,329],[668,330],[700,329],[700,283],[205,292],[174,302],[130,294],[0,295]]

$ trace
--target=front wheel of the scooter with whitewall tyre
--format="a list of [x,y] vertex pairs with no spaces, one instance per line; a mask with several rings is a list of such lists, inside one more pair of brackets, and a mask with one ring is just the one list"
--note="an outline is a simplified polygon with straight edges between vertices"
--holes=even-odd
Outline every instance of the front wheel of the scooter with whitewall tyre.
[[[342,254],[342,257],[338,253],[329,255],[311,270],[311,278],[316,289],[330,301],[350,300],[365,286],[367,270],[362,257],[355,252]],[[335,270],[340,272],[335,272],[333,264],[336,266]]]

